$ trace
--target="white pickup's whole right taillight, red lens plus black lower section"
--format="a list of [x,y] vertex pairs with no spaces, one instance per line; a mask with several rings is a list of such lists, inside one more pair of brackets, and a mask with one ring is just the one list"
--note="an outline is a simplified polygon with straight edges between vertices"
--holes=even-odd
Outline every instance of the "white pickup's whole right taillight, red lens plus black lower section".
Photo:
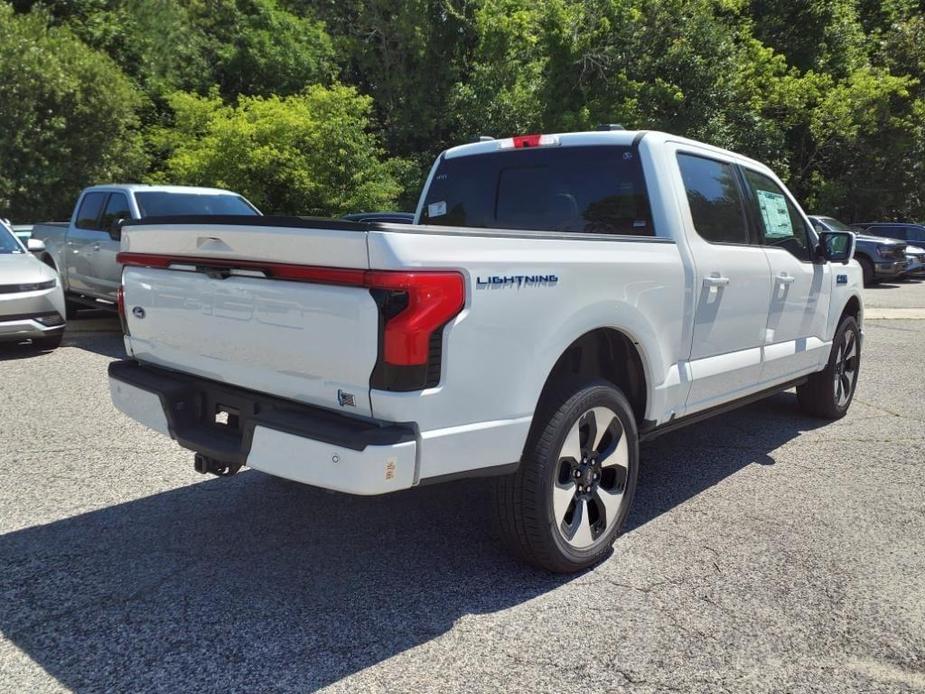
[[436,386],[443,327],[466,303],[463,276],[370,271],[366,285],[379,306],[379,359],[370,385],[393,391]]

